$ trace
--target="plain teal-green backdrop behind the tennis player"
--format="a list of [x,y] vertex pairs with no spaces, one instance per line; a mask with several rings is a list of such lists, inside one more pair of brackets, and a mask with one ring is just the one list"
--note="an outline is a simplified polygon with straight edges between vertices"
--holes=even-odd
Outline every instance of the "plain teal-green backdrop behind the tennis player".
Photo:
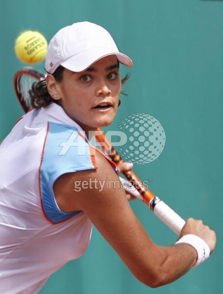
[[[135,165],[150,189],[183,218],[203,219],[218,244],[207,262],[171,285],[138,282],[95,228],[85,255],[53,274],[41,294],[223,293],[223,1],[0,0],[0,140],[22,115],[12,79],[24,64],[14,54],[23,30],[49,41],[62,27],[88,20],[105,27],[134,61],[114,130],[129,114],[148,113],[164,127],[166,146],[154,162]],[[44,70],[44,62],[35,65]],[[2,167],[3,168],[3,167]],[[141,202],[131,203],[153,241],[176,235]],[[66,250],[66,248],[61,248]]]

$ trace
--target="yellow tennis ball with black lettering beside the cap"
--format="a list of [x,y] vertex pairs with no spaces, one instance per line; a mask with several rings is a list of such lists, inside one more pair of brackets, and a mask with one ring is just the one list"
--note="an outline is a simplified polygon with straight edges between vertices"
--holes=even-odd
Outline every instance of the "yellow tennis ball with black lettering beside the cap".
[[15,53],[25,63],[38,63],[45,58],[47,41],[45,37],[34,31],[25,31],[15,40]]

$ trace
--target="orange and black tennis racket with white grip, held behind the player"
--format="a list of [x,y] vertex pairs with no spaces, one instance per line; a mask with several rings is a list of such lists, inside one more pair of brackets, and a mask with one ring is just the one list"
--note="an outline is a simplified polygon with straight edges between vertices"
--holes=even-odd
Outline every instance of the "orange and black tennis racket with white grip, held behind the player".
[[[43,73],[32,67],[23,67],[15,74],[13,80],[15,94],[25,113],[31,109],[29,90],[31,89],[32,84],[39,81],[44,76]],[[123,161],[121,155],[108,141],[101,129],[97,129],[95,137],[104,152],[111,157],[113,162],[118,164]],[[150,192],[132,170],[124,172],[123,174],[128,180],[120,177],[120,180],[125,186],[125,190],[145,202],[159,219],[161,219],[177,235],[180,235],[185,221],[173,209],[160,200],[160,198]]]

